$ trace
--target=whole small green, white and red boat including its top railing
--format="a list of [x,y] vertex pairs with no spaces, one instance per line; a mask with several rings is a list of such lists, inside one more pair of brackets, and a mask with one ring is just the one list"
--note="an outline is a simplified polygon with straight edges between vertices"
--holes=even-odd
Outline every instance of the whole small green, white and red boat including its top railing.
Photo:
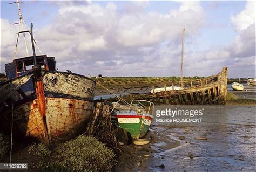
[[154,104],[146,100],[119,100],[113,102],[112,121],[125,129],[133,139],[147,134],[154,116]]

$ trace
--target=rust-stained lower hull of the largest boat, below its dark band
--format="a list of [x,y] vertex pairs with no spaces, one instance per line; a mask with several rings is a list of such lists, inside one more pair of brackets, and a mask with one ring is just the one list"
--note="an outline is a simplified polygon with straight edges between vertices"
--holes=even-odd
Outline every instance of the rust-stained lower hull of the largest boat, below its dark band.
[[[93,102],[65,98],[46,98],[46,122],[51,141],[69,140],[83,132],[93,113]],[[2,114],[4,129],[10,129],[11,109]],[[9,122],[7,122],[9,121]],[[2,122],[1,122],[2,123]],[[43,121],[37,99],[14,108],[14,134],[44,142]]]

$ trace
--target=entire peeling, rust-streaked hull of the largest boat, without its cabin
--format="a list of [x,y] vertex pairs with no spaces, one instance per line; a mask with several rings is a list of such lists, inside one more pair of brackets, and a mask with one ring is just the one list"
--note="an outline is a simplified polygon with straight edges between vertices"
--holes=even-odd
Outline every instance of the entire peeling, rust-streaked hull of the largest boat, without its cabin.
[[[32,137],[48,143],[69,140],[83,133],[94,110],[95,81],[75,73],[47,71],[41,84],[35,79],[30,80],[33,84],[26,88],[30,91],[22,92],[20,88],[26,83],[24,80],[29,81],[30,77],[25,75],[22,80],[15,78],[0,86],[1,96],[6,97],[0,100],[2,107],[5,100],[9,105],[10,102],[15,105],[14,136]],[[15,93],[7,94],[9,88],[16,87],[19,91],[12,89],[10,91]],[[8,133],[12,114],[10,107],[4,107],[0,114],[0,126]]]

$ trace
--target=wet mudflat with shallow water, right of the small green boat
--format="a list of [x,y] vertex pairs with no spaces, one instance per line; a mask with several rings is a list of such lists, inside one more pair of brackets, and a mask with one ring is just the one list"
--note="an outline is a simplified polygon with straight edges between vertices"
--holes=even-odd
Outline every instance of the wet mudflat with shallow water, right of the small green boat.
[[201,122],[156,122],[192,119],[186,115],[156,118],[150,129],[154,139],[134,150],[151,157],[138,159],[132,170],[255,171],[255,106],[155,106],[155,111],[166,109],[203,109],[203,114],[193,117]]

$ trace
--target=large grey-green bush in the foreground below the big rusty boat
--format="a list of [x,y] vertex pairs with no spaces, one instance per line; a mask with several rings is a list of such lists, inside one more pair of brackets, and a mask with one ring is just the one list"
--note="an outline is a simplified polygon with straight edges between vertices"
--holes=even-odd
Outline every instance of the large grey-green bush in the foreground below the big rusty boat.
[[40,162],[41,171],[111,171],[115,154],[93,136],[80,135],[56,148],[56,160]]

